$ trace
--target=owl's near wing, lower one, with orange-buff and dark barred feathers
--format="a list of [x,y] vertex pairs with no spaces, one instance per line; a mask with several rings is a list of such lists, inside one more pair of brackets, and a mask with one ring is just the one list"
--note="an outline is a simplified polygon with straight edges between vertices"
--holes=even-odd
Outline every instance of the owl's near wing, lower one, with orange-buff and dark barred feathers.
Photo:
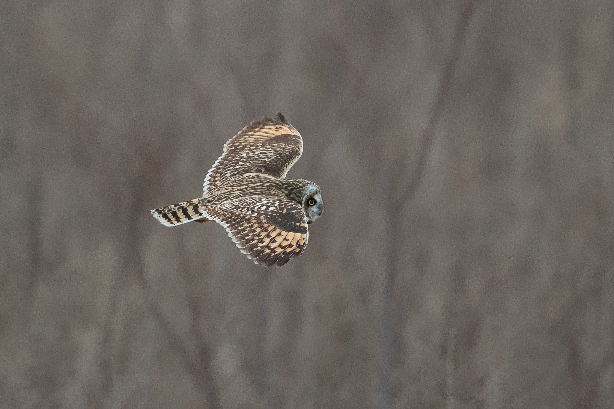
[[256,264],[281,267],[307,247],[309,231],[303,208],[281,197],[229,199],[206,208],[205,214],[225,227],[236,247]]

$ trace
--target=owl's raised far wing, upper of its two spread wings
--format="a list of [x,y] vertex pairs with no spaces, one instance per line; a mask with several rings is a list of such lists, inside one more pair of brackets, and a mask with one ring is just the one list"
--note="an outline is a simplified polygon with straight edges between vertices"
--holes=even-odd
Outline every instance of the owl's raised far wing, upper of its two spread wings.
[[204,179],[203,196],[237,175],[286,177],[303,153],[303,138],[284,115],[278,112],[277,118],[252,122],[225,143],[222,156]]

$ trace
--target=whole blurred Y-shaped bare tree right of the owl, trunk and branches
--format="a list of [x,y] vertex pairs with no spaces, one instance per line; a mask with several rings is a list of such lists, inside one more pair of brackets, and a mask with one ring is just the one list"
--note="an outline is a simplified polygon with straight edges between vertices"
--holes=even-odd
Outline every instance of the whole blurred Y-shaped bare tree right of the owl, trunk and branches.
[[[421,142],[419,144],[418,156],[416,158],[416,166],[411,172],[408,182],[403,184],[395,183],[393,180],[394,174],[406,174],[403,169],[394,169],[384,160],[384,153],[382,150],[383,142],[375,136],[377,129],[376,120],[370,120],[368,122],[368,129],[365,134],[370,144],[370,154],[372,156],[372,162],[376,166],[374,169],[381,169],[381,181],[380,185],[386,197],[384,204],[386,212],[386,228],[388,237],[393,239],[387,243],[387,258],[386,258],[386,278],[384,282],[384,314],[383,314],[383,334],[382,334],[382,361],[379,374],[379,388],[376,394],[376,407],[389,408],[391,406],[391,385],[390,385],[390,373],[392,369],[392,359],[394,357],[394,332],[395,332],[395,309],[394,309],[394,288],[397,283],[398,275],[398,255],[400,251],[400,240],[402,232],[400,229],[399,220],[403,212],[403,208],[407,205],[414,194],[416,193],[419,182],[424,175],[426,169],[426,158],[432,146],[433,137],[435,134],[435,128],[438,120],[441,117],[443,106],[446,102],[446,97],[449,94],[449,88],[454,73],[454,67],[456,66],[459,50],[461,48],[467,23],[470,20],[472,11],[474,9],[476,0],[470,0],[465,4],[461,10],[461,15],[454,29],[454,36],[452,39],[452,46],[448,54],[444,59],[443,69],[441,71],[440,82],[437,90],[437,96],[435,102],[429,113],[429,119],[427,121],[427,127],[422,132]],[[379,32],[376,36],[376,40],[373,46],[368,52],[368,58],[360,61],[360,53],[356,49],[356,45],[351,39],[349,34],[349,27],[343,16],[340,6],[335,1],[330,1],[328,4],[330,9],[330,15],[334,22],[333,25],[333,37],[336,42],[341,45],[345,52],[346,61],[349,65],[348,80],[346,81],[346,95],[352,104],[358,104],[358,109],[362,112],[360,115],[372,115],[372,110],[367,109],[367,103],[362,97],[362,90],[365,80],[367,78],[368,71],[371,64],[375,61],[376,53],[378,52],[381,42],[386,38],[383,32]],[[383,27],[382,30],[386,28]],[[360,103],[362,101],[362,104]],[[366,109],[366,111],[365,111]],[[349,108],[348,108],[349,110]],[[363,112],[365,111],[365,112]],[[347,115],[348,112],[341,112],[341,115]],[[397,194],[398,192],[398,194]],[[446,381],[448,378],[446,377]],[[448,391],[446,391],[448,392]]]

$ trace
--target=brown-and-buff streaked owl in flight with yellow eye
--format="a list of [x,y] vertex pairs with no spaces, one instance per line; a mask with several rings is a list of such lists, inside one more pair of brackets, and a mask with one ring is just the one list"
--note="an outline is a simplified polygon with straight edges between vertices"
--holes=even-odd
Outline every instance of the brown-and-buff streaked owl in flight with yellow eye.
[[203,184],[203,197],[152,210],[165,226],[214,220],[247,258],[283,266],[303,254],[308,224],[322,215],[320,186],[286,174],[303,153],[301,134],[277,120],[252,122],[224,145]]

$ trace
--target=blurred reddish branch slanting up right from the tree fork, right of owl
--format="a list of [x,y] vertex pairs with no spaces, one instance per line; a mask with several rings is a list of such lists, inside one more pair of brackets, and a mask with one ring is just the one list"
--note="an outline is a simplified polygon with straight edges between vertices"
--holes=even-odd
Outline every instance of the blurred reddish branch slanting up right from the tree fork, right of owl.
[[409,182],[400,189],[400,194],[394,199],[395,207],[402,207],[411,200],[418,189],[418,184],[424,174],[426,167],[426,157],[429,153],[430,147],[433,143],[433,136],[435,135],[435,127],[441,117],[441,111],[443,111],[443,105],[446,102],[446,98],[449,94],[450,85],[452,82],[452,75],[454,74],[454,67],[458,60],[459,50],[465,37],[465,31],[467,29],[467,23],[472,15],[473,8],[475,7],[476,0],[470,0],[465,4],[462,9],[461,17],[456,24],[456,30],[454,31],[454,39],[452,47],[445,59],[443,71],[441,72],[441,81],[439,83],[439,89],[437,90],[437,97],[435,98],[435,104],[429,115],[429,122],[422,133],[422,141],[418,150],[418,159],[416,159],[416,168],[411,175]]

